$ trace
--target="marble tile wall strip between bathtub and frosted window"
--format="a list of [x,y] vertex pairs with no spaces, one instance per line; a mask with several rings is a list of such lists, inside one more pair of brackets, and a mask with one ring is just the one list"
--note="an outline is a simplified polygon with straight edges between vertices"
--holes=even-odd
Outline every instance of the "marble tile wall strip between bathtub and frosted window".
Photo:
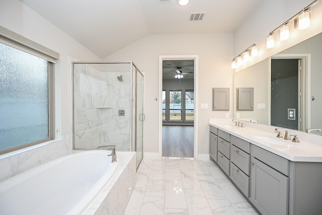
[[0,182],[72,152],[69,135],[0,156]]

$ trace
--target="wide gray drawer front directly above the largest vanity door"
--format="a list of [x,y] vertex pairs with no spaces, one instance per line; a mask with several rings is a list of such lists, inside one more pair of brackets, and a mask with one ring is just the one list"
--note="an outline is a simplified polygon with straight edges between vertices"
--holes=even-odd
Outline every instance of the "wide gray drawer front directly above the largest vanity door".
[[284,175],[290,175],[289,160],[282,158],[274,153],[264,150],[258,146],[252,145],[252,156],[271,166]]

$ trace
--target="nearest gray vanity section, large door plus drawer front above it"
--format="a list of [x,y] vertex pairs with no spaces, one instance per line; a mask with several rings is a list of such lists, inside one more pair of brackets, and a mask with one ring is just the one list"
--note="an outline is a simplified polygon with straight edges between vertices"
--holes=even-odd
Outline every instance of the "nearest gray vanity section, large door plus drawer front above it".
[[287,215],[289,161],[255,145],[252,150],[251,202],[262,214]]

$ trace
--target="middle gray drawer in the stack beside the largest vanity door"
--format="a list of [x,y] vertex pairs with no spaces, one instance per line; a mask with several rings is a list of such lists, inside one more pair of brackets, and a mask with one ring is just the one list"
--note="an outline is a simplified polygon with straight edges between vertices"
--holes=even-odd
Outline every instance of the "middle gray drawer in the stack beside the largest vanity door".
[[246,175],[250,175],[251,156],[239,148],[230,146],[230,161],[234,163]]

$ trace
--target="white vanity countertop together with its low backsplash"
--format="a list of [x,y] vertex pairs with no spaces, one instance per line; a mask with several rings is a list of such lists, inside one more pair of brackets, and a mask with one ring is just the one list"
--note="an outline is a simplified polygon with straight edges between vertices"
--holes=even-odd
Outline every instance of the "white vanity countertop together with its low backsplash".
[[[295,162],[322,162],[322,136],[291,130],[290,134],[297,135],[300,142],[293,142],[276,137],[275,126],[244,122],[245,127],[235,126],[232,120],[209,119],[209,124],[234,136],[242,138],[251,144]],[[284,131],[281,132],[284,135]],[[274,140],[283,141],[285,145],[276,145],[254,136],[267,136]]]

